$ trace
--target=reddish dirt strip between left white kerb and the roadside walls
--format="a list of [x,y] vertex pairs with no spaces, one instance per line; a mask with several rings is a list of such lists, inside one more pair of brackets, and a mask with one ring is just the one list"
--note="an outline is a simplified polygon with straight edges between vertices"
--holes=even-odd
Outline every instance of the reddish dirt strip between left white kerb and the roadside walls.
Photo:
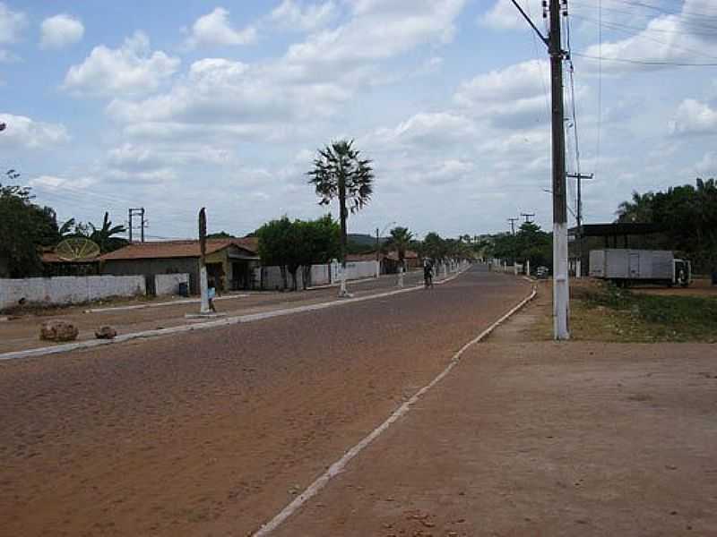
[[[453,276],[453,275],[449,275]],[[405,284],[415,285],[422,281],[422,272],[411,272],[405,276]],[[349,289],[356,296],[379,293],[391,290],[396,286],[396,276],[384,276],[377,280],[350,282]],[[297,293],[248,293],[216,301],[216,309],[228,316],[258,313],[281,308],[296,307],[313,303],[324,303],[338,300],[335,287],[318,288]],[[120,303],[118,305],[151,304]],[[17,319],[0,322],[0,354],[41,346],[54,345],[52,342],[39,339],[39,327],[42,322],[50,319],[62,319],[73,322],[80,328],[79,341],[94,339],[94,332],[103,325],[117,329],[118,334],[139,332],[157,328],[170,328],[186,324],[197,324],[200,320],[187,320],[186,313],[199,311],[198,303],[174,301],[172,305],[152,306],[143,309],[125,310],[122,307],[108,311],[85,312],[91,306],[71,307],[46,314],[26,314]],[[47,314],[49,313],[49,314]]]

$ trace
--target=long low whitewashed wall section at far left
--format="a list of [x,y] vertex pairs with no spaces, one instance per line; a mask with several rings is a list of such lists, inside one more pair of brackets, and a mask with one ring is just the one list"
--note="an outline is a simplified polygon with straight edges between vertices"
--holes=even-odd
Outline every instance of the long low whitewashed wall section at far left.
[[109,296],[145,294],[143,276],[59,276],[0,279],[0,309],[26,303],[86,303]]

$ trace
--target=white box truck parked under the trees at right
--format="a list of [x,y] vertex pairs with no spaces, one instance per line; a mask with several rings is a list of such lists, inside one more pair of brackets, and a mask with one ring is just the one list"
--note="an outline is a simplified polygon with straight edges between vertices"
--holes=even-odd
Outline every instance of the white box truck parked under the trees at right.
[[662,284],[687,287],[692,264],[678,260],[669,250],[592,250],[590,276],[608,279],[618,286]]

